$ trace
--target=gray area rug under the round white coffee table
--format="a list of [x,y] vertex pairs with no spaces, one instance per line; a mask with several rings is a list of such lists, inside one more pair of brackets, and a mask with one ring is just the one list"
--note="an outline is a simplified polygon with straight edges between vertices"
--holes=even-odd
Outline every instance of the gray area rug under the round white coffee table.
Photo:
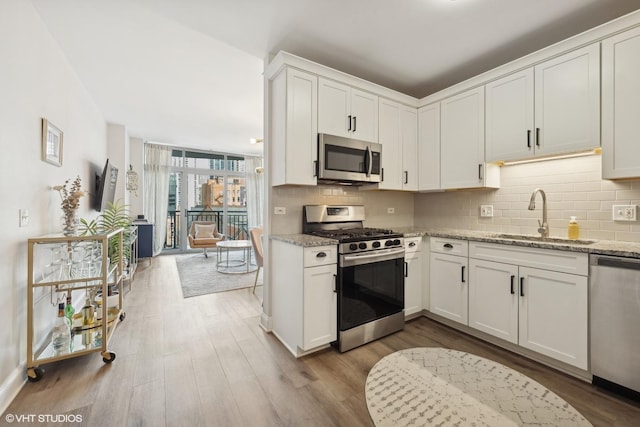
[[[241,258],[242,254],[238,253],[233,254],[230,260],[239,261]],[[255,264],[250,265],[250,270],[253,271],[248,274],[224,274],[216,271],[215,250],[210,251],[209,258],[205,258],[202,252],[198,252],[176,255],[175,259],[184,298],[253,287],[256,277]],[[230,270],[242,273],[246,271],[246,265],[233,267]],[[262,270],[258,277],[258,286],[261,285]]]

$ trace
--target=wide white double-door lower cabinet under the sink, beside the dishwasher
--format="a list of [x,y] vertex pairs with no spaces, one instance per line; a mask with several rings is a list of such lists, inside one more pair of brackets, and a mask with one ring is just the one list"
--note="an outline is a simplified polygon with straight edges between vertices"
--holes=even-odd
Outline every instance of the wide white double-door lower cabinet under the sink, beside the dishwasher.
[[586,253],[471,242],[469,257],[470,327],[588,368]]

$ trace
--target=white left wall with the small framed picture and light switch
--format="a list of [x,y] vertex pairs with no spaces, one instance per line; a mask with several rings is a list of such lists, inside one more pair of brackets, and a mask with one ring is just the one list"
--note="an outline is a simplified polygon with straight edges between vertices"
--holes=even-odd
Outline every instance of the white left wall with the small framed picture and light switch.
[[[102,114],[31,2],[0,2],[0,58],[1,413],[26,378],[26,240],[60,231],[60,199],[51,186],[79,175],[90,189],[107,142]],[[40,160],[42,117],[64,132],[62,167]],[[18,227],[20,208],[29,209],[28,227]],[[79,214],[96,215],[89,198]]]

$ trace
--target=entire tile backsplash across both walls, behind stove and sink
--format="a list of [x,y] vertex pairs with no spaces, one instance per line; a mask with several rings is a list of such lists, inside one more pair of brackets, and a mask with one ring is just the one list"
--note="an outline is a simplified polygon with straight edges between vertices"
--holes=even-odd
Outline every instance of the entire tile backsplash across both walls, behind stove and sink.
[[[501,188],[436,193],[363,190],[352,187],[274,187],[272,206],[286,215],[272,215],[274,234],[302,232],[302,206],[312,204],[364,205],[368,227],[443,227],[497,233],[537,234],[542,198],[536,210],[527,209],[534,189],[547,194],[550,234],[566,237],[569,217],[578,217],[580,237],[640,241],[640,222],[611,220],[614,204],[640,205],[640,180],[601,179],[600,156],[550,160],[501,170]],[[494,216],[481,218],[481,204],[492,204]],[[387,213],[393,207],[395,213]]]

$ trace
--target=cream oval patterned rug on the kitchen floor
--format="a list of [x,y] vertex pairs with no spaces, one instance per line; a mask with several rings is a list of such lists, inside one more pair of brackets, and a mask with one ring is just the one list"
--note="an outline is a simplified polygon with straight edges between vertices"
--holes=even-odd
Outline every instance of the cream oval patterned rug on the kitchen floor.
[[365,394],[377,427],[591,426],[531,378],[444,348],[411,348],[385,356],[371,368]]

